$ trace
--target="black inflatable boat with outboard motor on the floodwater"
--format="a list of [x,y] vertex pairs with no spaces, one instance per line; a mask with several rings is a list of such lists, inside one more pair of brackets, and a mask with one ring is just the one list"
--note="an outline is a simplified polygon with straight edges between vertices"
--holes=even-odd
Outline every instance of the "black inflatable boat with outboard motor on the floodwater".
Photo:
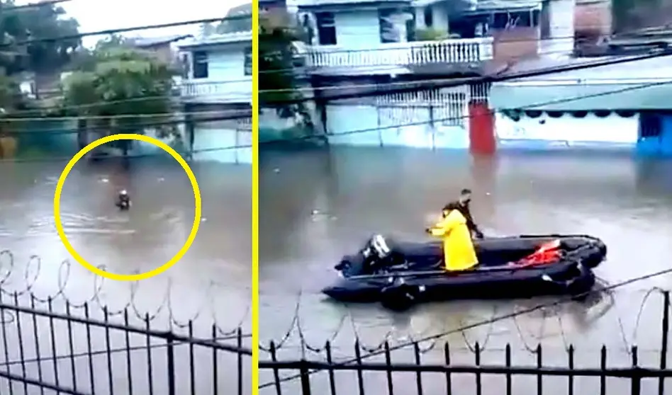
[[[511,263],[559,241],[560,258],[543,265]],[[448,299],[510,299],[580,295],[595,284],[592,268],[607,254],[600,239],[583,235],[541,235],[475,241],[479,265],[449,273],[442,268],[440,241],[409,243],[373,236],[335,266],[340,279],[323,290],[342,302],[382,302],[405,309],[418,302]]]

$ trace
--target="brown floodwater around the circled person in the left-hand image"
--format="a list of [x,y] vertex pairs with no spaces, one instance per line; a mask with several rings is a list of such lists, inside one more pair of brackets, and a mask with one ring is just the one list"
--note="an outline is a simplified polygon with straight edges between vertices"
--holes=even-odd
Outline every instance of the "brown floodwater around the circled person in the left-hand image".
[[[0,247],[7,250],[0,257],[0,280],[5,279],[1,284],[3,302],[11,302],[11,293],[20,292],[17,299],[21,306],[35,303],[37,309],[47,309],[47,303],[35,302],[35,299],[31,302],[29,293],[33,293],[38,299],[53,297],[53,309],[59,313],[65,312],[65,302],[69,302],[74,316],[83,316],[84,310],[77,306],[88,302],[89,314],[95,319],[104,318],[103,307],[106,307],[110,321],[123,323],[123,310],[127,308],[131,325],[145,327],[142,319],[148,314],[151,327],[157,331],[172,328],[176,333],[186,334],[186,324],[193,319],[191,329],[194,336],[200,338],[230,338],[238,326],[242,326],[244,333],[250,333],[250,166],[192,165],[203,202],[203,219],[196,241],[184,258],[166,273],[133,284],[96,280],[76,262],[63,263],[68,261],[69,254],[55,231],[52,205],[57,178],[65,164],[0,164]],[[114,206],[116,193],[121,189],[128,190],[133,200],[128,212],[120,212]],[[65,181],[61,207],[62,223],[72,246],[92,265],[113,273],[146,272],[162,265],[184,244],[194,221],[194,195],[189,179],[177,162],[168,159],[134,160],[127,169],[115,161],[77,164]],[[2,328],[10,344],[21,342],[21,338],[16,338],[20,336],[16,321],[23,323],[24,330],[30,328],[30,334],[23,338],[23,342],[28,343],[24,350],[26,359],[35,354],[38,359],[40,355],[54,355],[47,341],[50,331],[44,326],[46,320],[38,323],[39,328],[35,326],[35,333],[41,333],[40,338],[44,339],[40,345],[31,344],[33,323],[29,316],[18,320],[16,314],[5,311],[4,321]],[[61,322],[55,331],[58,344],[55,354],[69,353],[65,323]],[[84,347],[85,333],[82,327],[74,328],[74,332],[74,348],[79,353]],[[124,336],[112,331],[108,345],[103,342],[105,336],[105,331],[94,328],[94,351],[106,347],[117,350],[111,363],[115,367],[113,381],[119,387],[115,392],[120,393],[129,380],[124,374],[126,354],[119,352],[120,347],[123,351]],[[144,358],[147,354],[142,350],[145,337],[131,337],[130,343],[139,345],[137,353]],[[154,370],[159,377],[154,391],[164,393],[166,384],[160,377],[166,374],[165,345],[151,348],[154,348],[152,353],[156,353]],[[212,351],[198,353],[194,366],[212,377]],[[10,346],[8,359],[17,358],[16,346]],[[96,394],[106,394],[111,392],[106,388],[108,367],[99,365],[106,363],[104,355],[99,358],[93,365],[98,383]],[[133,360],[137,358],[134,356]],[[189,365],[186,346],[177,348],[176,358],[178,369]],[[217,358],[220,392],[235,388],[235,356],[220,352]],[[93,392],[85,373],[89,362],[86,358],[76,362],[79,390]],[[134,390],[138,393],[147,393],[147,379],[142,382],[142,374],[145,374],[142,372],[147,370],[142,367],[145,363],[135,367],[140,372],[140,377],[135,377]],[[250,381],[248,363],[249,359],[245,361],[246,382]],[[21,374],[20,366],[10,365],[12,373]],[[53,382],[55,377],[50,373],[53,368],[39,365],[28,363],[26,374],[30,377],[44,374],[45,381]],[[58,365],[63,365],[60,371],[64,372],[70,362],[62,360]],[[186,375],[186,370],[184,372]],[[61,377],[60,384],[72,386],[70,374],[61,375],[65,378]],[[176,377],[179,393],[187,392],[186,380],[184,375]],[[212,382],[201,381],[203,384],[196,387],[198,394],[212,394]],[[5,393],[6,388],[2,382],[0,392]],[[128,391],[130,389],[122,392]],[[20,390],[20,393],[23,392]]]

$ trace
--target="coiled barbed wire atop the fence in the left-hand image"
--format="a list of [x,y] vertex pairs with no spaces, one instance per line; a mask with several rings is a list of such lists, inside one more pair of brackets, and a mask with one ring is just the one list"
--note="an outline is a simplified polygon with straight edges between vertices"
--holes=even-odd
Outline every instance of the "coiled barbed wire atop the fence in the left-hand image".
[[[99,265],[97,268],[106,270],[105,265]],[[122,304],[121,307],[111,309],[102,296],[103,285],[105,284],[106,279],[100,276],[94,277],[91,296],[85,297],[79,302],[74,302],[72,298],[68,296],[67,285],[71,280],[72,274],[72,263],[68,260],[62,261],[58,266],[56,289],[55,291],[50,292],[47,296],[38,295],[36,289],[40,274],[42,273],[42,259],[40,256],[31,255],[28,259],[28,264],[22,270],[23,273],[19,273],[20,270],[21,269],[16,265],[14,254],[10,250],[5,249],[0,251],[0,301],[3,298],[9,297],[14,304],[18,305],[21,297],[28,297],[31,308],[34,308],[35,303],[52,304],[57,300],[62,300],[66,304],[68,314],[70,314],[73,309],[88,311],[91,306],[95,306],[101,311],[104,311],[108,317],[113,318],[130,313],[140,321],[155,321],[156,319],[159,319],[159,316],[164,314],[163,316],[167,317],[170,328],[176,329],[189,328],[194,321],[200,319],[207,311],[210,314],[217,337],[233,336],[240,328],[245,326],[245,321],[249,318],[252,309],[251,301],[248,301],[242,316],[229,328],[223,327],[218,322],[215,314],[215,306],[217,304],[213,297],[213,289],[217,287],[218,283],[214,280],[210,280],[204,292],[206,295],[206,303],[201,304],[201,306],[196,309],[196,312],[192,313],[189,319],[179,319],[175,311],[174,298],[172,297],[173,282],[170,277],[167,279],[167,286],[161,295],[158,307],[156,307],[154,311],[147,311],[147,309],[142,311],[142,309],[138,307],[137,297],[140,285],[139,281],[130,282],[128,301]],[[136,270],[134,274],[135,273],[139,272]],[[12,280],[17,276],[21,277],[21,280],[23,280],[23,286],[10,289],[9,285],[13,284]],[[14,319],[16,319],[16,317],[14,317],[12,313],[4,311],[4,315],[0,317],[0,324],[11,324]],[[247,336],[247,334],[245,336]]]

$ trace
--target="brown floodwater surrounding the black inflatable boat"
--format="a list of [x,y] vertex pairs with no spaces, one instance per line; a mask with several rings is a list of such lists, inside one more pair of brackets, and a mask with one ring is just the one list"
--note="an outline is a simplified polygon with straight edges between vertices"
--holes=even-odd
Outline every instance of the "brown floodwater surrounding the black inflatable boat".
[[[598,367],[603,344],[607,365],[628,365],[633,345],[639,346],[640,365],[659,364],[663,299],[649,291],[669,289],[670,275],[617,287],[590,304],[566,303],[467,331],[456,329],[554,299],[427,304],[393,314],[378,305],[327,302],[320,289],[334,280],[338,259],[372,233],[426,239],[422,229],[461,188],[474,190],[472,213],[486,234],[600,237],[609,253],[595,273],[609,284],[665,270],[670,268],[672,162],[626,154],[510,153],[474,159],[457,151],[339,147],[265,152],[259,176],[259,337],[266,345],[279,343],[281,357],[305,352],[318,358],[309,349],[332,340],[335,358],[344,360],[354,355],[355,338],[371,351],[386,339],[395,345],[452,332],[422,342],[422,360],[442,362],[448,341],[453,363],[473,364],[478,342],[484,349],[481,363],[503,364],[510,343],[514,364],[534,365],[534,348],[541,343],[544,365],[566,367],[566,348],[573,343],[577,367]],[[368,360],[382,361],[380,356]],[[399,350],[393,360],[413,362],[413,357]],[[384,372],[365,376],[367,394],[387,394]],[[434,377],[424,380],[425,394],[445,394],[444,377]],[[313,389],[326,392],[327,374],[312,378]],[[483,379],[483,394],[502,393],[503,377]],[[263,372],[260,382],[269,380],[271,374]],[[452,381],[453,389],[464,390],[460,393],[475,393],[474,374],[455,374]],[[297,382],[285,391],[297,388],[292,387]],[[354,372],[338,373],[337,382],[344,393],[357,391]],[[535,383],[534,377],[515,378],[514,392],[536,394]],[[564,383],[566,378],[544,379],[544,394],[566,394]],[[395,392],[417,391],[415,374],[399,374],[395,384]],[[656,384],[644,380],[642,391]],[[598,379],[576,379],[575,386],[581,387],[577,394],[593,394]],[[607,379],[607,386],[610,394],[629,394],[616,379]],[[262,390],[274,393],[273,387]]]

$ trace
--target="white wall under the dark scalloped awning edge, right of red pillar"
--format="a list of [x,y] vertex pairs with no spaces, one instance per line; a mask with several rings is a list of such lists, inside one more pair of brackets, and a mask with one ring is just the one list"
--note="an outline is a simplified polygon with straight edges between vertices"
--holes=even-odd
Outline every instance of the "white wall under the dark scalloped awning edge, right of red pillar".
[[517,122],[495,114],[495,134],[498,147],[542,148],[558,147],[634,147],[639,137],[639,115],[622,118],[610,115],[599,118],[588,114],[575,118],[564,114],[551,118],[546,113],[539,118],[522,115]]

